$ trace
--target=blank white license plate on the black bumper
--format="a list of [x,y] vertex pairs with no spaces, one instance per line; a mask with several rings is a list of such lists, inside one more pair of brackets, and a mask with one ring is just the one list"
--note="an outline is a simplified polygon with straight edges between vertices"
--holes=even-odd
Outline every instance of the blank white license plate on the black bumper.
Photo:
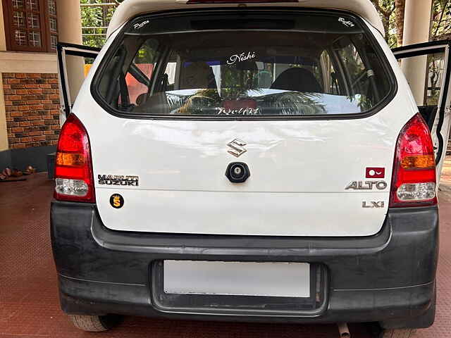
[[307,263],[164,261],[166,294],[310,296]]

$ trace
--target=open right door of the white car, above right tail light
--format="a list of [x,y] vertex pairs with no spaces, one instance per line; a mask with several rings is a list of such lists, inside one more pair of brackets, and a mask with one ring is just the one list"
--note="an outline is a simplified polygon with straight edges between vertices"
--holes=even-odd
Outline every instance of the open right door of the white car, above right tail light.
[[431,130],[438,180],[450,137],[450,45],[444,40],[393,49]]

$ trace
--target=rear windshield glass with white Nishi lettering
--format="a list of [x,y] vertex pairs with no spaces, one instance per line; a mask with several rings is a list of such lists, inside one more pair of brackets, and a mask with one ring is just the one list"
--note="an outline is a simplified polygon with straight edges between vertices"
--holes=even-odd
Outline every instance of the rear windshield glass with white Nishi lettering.
[[281,116],[370,111],[390,74],[343,13],[213,13],[133,20],[97,74],[132,115]]

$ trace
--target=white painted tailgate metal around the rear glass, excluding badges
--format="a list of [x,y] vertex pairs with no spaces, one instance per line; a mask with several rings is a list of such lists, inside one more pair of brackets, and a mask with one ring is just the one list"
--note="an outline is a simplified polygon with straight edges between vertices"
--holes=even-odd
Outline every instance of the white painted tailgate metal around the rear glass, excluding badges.
[[[369,25],[397,77],[397,94],[368,118],[342,120],[149,120],[104,111],[90,84],[109,39],[83,85],[73,112],[91,143],[97,207],[111,230],[271,236],[369,236],[388,211],[395,144],[418,111],[383,37]],[[82,98],[82,99],[80,99]],[[227,144],[239,138],[239,159]],[[225,176],[229,163],[250,168],[245,184]],[[366,167],[385,168],[384,190],[345,190],[366,181]],[[137,175],[139,187],[98,184],[98,175]],[[123,196],[111,208],[112,194]],[[383,202],[383,208],[362,203]]]

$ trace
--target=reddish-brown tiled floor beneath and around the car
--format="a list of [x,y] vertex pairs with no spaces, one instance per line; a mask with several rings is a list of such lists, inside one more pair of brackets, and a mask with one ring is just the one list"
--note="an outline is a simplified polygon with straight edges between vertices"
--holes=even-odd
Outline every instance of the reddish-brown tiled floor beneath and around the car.
[[[450,182],[451,183],[451,182]],[[451,184],[449,185],[451,187]],[[0,183],[0,338],[12,337],[338,337],[335,325],[269,325],[125,318],[102,334],[73,328],[58,306],[56,273],[49,242],[52,183],[44,174],[26,182]],[[418,338],[451,337],[451,188],[440,192],[441,244],[438,313]],[[351,325],[352,337],[370,337]]]

